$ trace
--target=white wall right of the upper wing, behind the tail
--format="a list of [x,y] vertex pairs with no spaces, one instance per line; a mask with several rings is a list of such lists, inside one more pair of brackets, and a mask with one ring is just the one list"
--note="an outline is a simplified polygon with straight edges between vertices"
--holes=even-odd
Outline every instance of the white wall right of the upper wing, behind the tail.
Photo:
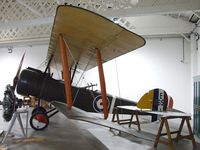
[[[162,88],[173,97],[176,109],[192,112],[190,43],[184,41],[183,62],[182,38],[146,41],[144,47],[104,64],[107,92],[138,101],[150,89]],[[97,68],[88,71],[85,79],[97,83]]]

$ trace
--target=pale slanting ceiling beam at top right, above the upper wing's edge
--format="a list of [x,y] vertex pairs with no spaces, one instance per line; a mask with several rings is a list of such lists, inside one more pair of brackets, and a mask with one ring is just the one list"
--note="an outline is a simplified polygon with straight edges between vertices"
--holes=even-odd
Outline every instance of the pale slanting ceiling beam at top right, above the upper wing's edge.
[[159,5],[147,3],[145,5],[136,5],[128,9],[99,11],[98,13],[105,17],[133,17],[195,10],[200,10],[200,0],[189,0],[184,2],[174,1],[168,4]]

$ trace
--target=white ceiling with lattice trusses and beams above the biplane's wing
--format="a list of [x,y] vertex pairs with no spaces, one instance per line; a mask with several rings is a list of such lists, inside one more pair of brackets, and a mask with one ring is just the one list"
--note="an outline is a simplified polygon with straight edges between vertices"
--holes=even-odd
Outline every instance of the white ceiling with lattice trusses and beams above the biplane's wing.
[[48,43],[56,7],[71,4],[100,13],[143,36],[180,36],[199,24],[200,0],[1,0],[0,46]]

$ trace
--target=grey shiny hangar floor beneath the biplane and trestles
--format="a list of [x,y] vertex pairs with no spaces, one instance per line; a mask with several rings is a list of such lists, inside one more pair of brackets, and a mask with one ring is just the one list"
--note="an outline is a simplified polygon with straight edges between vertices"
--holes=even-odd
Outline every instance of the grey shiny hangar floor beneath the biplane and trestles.
[[[2,110],[0,110],[2,113]],[[1,114],[0,114],[1,115]],[[140,118],[142,122],[148,118]],[[25,116],[22,115],[25,123]],[[0,119],[0,130],[7,130],[9,123]],[[170,128],[177,128],[178,122],[170,123]],[[108,128],[67,119],[61,113],[50,119],[50,125],[44,131],[34,131],[28,127],[28,137],[31,140],[21,139],[21,129],[18,122],[15,123],[11,134],[6,142],[1,145],[9,150],[168,150],[169,147],[158,144],[153,147],[155,135],[159,127],[159,122],[143,124],[142,131],[138,132],[136,127],[131,127],[135,131],[135,136],[125,133],[119,134],[117,131],[110,131]],[[184,132],[187,130],[184,128]],[[182,140],[174,143],[175,149],[191,150],[192,143]],[[196,149],[200,149],[197,143]],[[1,150],[1,148],[0,148]]]

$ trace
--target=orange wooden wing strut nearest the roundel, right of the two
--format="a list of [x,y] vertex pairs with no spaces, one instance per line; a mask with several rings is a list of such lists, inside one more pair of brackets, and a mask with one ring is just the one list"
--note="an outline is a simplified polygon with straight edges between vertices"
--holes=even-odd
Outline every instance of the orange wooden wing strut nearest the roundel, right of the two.
[[107,104],[106,84],[105,84],[105,78],[104,78],[104,72],[103,72],[103,66],[102,66],[101,53],[98,48],[96,48],[96,58],[97,58],[97,64],[98,64],[98,70],[99,70],[99,80],[100,80],[100,85],[101,85],[101,97],[102,97],[102,103],[103,103],[104,119],[107,119],[108,118],[108,104]]

